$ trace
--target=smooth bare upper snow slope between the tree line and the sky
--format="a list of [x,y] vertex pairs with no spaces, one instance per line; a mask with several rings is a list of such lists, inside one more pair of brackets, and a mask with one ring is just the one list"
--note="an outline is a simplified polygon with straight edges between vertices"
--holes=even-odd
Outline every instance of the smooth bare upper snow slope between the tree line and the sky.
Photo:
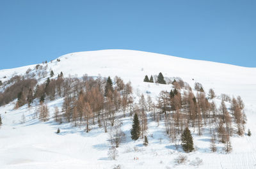
[[[48,63],[55,75],[61,71],[64,76],[90,76],[124,78],[131,80],[132,85],[142,85],[141,79],[145,75],[157,75],[162,72],[164,77],[181,77],[193,87],[195,82],[200,82],[205,89],[214,87],[217,93],[236,94],[246,103],[256,103],[253,96],[256,89],[256,68],[244,68],[218,62],[196,61],[183,59],[170,55],[140,52],[135,50],[98,50],[90,52],[76,52],[59,57]],[[24,66],[11,70],[0,70],[0,80],[4,76],[11,77],[14,73],[24,74],[28,68],[35,65]],[[195,79],[193,81],[192,79]],[[158,93],[157,93],[158,94]]]

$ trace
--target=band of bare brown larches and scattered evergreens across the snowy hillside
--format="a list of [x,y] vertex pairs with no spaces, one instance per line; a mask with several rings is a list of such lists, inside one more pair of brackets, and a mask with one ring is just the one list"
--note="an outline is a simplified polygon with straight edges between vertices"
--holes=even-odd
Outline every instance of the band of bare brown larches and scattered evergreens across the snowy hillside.
[[[209,149],[212,152],[216,151],[216,136],[224,145],[223,151],[228,153],[232,150],[230,136],[244,135],[246,115],[243,100],[239,96],[231,99],[221,94],[221,104],[217,107],[213,89],[209,89],[206,94],[203,85],[195,82],[193,91],[181,78],[164,78],[159,73],[154,76],[155,80],[152,75],[150,78],[146,75],[143,81],[172,84],[170,91],[161,91],[156,99],[140,94],[138,101],[134,102],[131,82],[125,84],[120,77],[64,77],[62,72],[54,77],[52,70],[50,77],[47,77],[45,67],[35,67],[35,70],[41,70],[38,75],[45,77],[44,83],[37,84],[37,80],[29,75],[31,70],[27,71],[27,77],[16,75],[4,82],[2,85],[5,90],[0,93],[0,104],[7,104],[17,98],[15,108],[25,104],[30,107],[36,100],[39,103],[36,117],[45,122],[51,118],[47,101],[64,98],[61,110],[58,107],[54,109],[54,121],[59,124],[72,122],[73,126],[83,125],[86,133],[90,132],[91,126],[97,124],[109,133],[109,142],[116,148],[125,140],[120,118],[127,116],[133,117],[132,140],[141,138],[145,146],[148,145],[148,121],[156,121],[158,124],[164,122],[166,135],[177,149],[179,144],[182,145],[185,152],[194,150],[189,129],[200,136],[204,134],[203,128],[211,128]],[[227,102],[231,105],[230,109],[226,106]],[[60,129],[57,133],[60,133]],[[251,135],[250,131],[248,135]],[[180,140],[182,143],[179,143]]]

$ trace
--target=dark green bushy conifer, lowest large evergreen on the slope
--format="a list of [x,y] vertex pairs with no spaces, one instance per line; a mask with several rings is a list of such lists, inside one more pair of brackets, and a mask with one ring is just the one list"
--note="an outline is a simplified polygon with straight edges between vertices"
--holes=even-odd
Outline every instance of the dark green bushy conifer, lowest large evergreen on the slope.
[[193,146],[193,137],[190,133],[190,130],[188,128],[186,128],[184,130],[184,132],[181,135],[181,144],[182,144],[182,148],[185,152],[191,152],[194,150],[194,146]]

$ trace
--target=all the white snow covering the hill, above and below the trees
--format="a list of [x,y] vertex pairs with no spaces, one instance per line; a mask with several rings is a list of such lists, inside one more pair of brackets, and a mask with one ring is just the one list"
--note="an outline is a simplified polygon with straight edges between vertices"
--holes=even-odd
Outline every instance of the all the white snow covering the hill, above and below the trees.
[[[243,57],[243,56],[241,56]],[[241,96],[245,103],[247,115],[246,131],[252,131],[252,136],[237,136],[231,138],[232,152],[225,154],[221,151],[223,144],[217,143],[218,151],[209,149],[211,135],[207,128],[203,128],[203,136],[193,133],[196,151],[189,154],[182,149],[178,151],[166,136],[164,124],[157,127],[156,122],[148,121],[148,147],[143,146],[143,140],[131,140],[130,129],[132,117],[120,119],[126,140],[121,143],[118,158],[108,158],[108,133],[97,125],[90,126],[89,133],[84,132],[84,124],[74,127],[72,123],[57,124],[51,118],[48,122],[41,122],[34,118],[34,111],[38,101],[32,106],[24,105],[13,110],[15,101],[0,107],[3,125],[0,128],[0,168],[256,168],[256,68],[244,68],[230,64],[221,64],[209,61],[196,61],[182,59],[170,55],[154,54],[134,50],[99,50],[92,52],[76,52],[59,57],[60,62],[48,62],[48,70],[56,75],[63,72],[65,77],[73,75],[114,78],[116,75],[125,82],[131,81],[134,97],[138,94],[149,93],[156,98],[162,90],[170,91],[172,85],[150,84],[143,82],[145,75],[158,75],[162,72],[164,77],[180,77],[191,87],[200,82],[206,92],[213,88],[218,96],[221,93],[230,96]],[[10,79],[12,75],[24,75],[28,68],[35,65],[0,70],[2,82]],[[46,78],[41,79],[44,82]],[[194,80],[193,80],[194,79]],[[1,89],[3,90],[3,89]],[[220,98],[220,97],[219,97]],[[218,97],[215,100],[220,102]],[[48,101],[51,117],[54,107],[61,105],[63,98]],[[227,104],[228,105],[228,104]],[[22,115],[26,122],[21,123]],[[60,134],[56,134],[60,128]],[[153,135],[151,137],[150,135]],[[136,148],[134,148],[136,147]],[[188,156],[188,163],[175,164],[179,154]],[[138,157],[138,160],[134,160]],[[202,159],[200,165],[195,159]]]

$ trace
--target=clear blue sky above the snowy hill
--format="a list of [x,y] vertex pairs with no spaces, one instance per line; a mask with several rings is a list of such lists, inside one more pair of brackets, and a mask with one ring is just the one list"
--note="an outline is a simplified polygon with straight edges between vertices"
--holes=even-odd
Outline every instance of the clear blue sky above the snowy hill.
[[256,67],[256,1],[0,0],[0,69],[109,48]]

